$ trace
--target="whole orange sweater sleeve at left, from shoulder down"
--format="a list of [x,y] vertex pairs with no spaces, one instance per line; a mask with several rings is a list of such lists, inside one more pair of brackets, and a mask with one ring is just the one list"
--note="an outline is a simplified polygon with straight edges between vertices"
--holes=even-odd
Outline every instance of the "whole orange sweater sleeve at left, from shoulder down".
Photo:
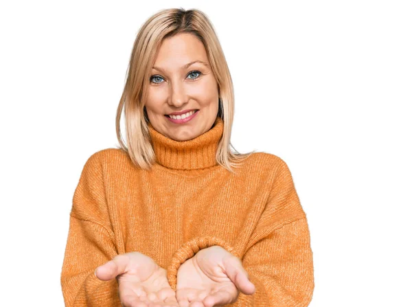
[[65,306],[121,306],[117,280],[104,282],[95,269],[117,255],[102,164],[92,155],[84,165],[73,196],[69,235],[60,282]]

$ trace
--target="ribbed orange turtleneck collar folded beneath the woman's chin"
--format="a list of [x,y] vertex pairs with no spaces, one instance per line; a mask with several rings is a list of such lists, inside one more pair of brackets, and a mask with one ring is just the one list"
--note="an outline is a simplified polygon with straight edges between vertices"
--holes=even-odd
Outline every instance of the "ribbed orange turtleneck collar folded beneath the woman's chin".
[[196,170],[216,166],[216,151],[223,135],[223,120],[216,117],[214,125],[202,135],[187,141],[176,141],[157,132],[148,123],[156,161],[176,170]]

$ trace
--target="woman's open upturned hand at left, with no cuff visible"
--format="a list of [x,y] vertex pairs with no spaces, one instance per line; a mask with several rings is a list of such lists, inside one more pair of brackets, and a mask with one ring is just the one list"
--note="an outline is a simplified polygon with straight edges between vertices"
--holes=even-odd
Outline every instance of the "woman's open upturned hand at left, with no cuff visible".
[[119,298],[124,307],[179,306],[170,288],[166,270],[142,253],[124,253],[98,266],[100,280],[119,283]]

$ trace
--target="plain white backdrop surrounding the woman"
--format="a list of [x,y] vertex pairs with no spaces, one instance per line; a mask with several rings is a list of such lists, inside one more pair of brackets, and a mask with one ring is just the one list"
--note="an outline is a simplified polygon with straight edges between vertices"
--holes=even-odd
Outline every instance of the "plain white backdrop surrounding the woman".
[[310,307],[412,306],[410,1],[2,1],[2,306],[64,306],[87,159],[117,145],[139,27],[198,8],[236,95],[231,142],[284,159],[308,216]]

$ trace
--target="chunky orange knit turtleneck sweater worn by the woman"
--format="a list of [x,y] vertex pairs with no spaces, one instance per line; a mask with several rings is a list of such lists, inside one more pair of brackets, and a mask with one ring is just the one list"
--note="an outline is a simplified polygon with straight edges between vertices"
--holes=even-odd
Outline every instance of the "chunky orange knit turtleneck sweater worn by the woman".
[[150,256],[175,289],[180,264],[213,245],[238,256],[256,287],[227,306],[308,306],[310,234],[290,170],[279,157],[254,152],[231,174],[215,159],[222,132],[220,117],[189,141],[150,126],[157,157],[150,171],[116,148],[89,157],[74,192],[62,264],[66,306],[121,306],[117,281],[94,275],[117,254]]

